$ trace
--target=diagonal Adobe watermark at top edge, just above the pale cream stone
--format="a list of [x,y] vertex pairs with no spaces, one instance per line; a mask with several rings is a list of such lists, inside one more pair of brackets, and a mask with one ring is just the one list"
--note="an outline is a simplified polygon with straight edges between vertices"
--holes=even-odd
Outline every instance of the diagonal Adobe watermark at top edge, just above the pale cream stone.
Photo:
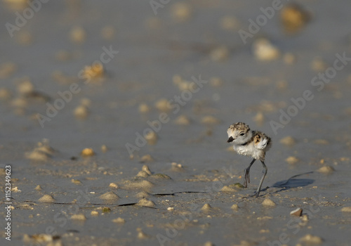
[[238,31],[241,41],[243,41],[243,43],[246,44],[246,39],[253,38],[253,35],[257,34],[260,31],[261,27],[265,26],[268,20],[272,19],[277,13],[277,11],[279,11],[282,8],[283,4],[281,0],[273,0],[271,6],[268,6],[267,8],[261,7],[260,11],[262,12],[262,15],[258,15],[256,17],[256,20],[253,20],[251,18],[249,19],[248,30],[245,31],[240,29]]

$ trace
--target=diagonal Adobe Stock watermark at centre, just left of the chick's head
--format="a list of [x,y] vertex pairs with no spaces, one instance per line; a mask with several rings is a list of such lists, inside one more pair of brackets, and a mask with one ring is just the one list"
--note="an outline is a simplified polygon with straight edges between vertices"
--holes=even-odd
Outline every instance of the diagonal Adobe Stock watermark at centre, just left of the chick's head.
[[[197,93],[200,91],[202,87],[204,87],[204,84],[207,84],[207,80],[201,79],[201,75],[199,75],[199,79],[196,77],[192,76],[193,84],[196,84],[197,88],[192,88],[194,86],[190,86],[190,89],[182,91],[179,95],[176,95],[173,97],[173,99],[168,101],[168,108],[170,110],[173,110],[172,113],[173,115],[178,114],[180,107],[183,107],[184,105],[187,104],[188,101],[192,99],[192,96],[194,93]],[[159,114],[158,119],[155,119],[154,121],[148,120],[146,123],[149,125],[149,127],[145,128],[143,130],[143,134],[140,134],[138,131],[135,132],[135,141],[133,143],[126,143],[126,150],[128,151],[129,155],[133,155],[134,151],[139,151],[141,148],[143,148],[147,141],[144,136],[146,136],[148,133],[154,131],[155,133],[158,133],[161,131],[162,125],[168,123],[170,120],[169,115],[166,112],[161,112]]]

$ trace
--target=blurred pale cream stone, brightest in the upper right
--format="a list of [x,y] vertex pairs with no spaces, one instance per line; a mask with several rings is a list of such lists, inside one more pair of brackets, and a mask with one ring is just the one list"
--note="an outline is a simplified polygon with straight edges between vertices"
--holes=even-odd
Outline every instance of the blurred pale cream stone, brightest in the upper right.
[[260,38],[253,42],[253,54],[258,60],[277,60],[280,51],[268,39]]

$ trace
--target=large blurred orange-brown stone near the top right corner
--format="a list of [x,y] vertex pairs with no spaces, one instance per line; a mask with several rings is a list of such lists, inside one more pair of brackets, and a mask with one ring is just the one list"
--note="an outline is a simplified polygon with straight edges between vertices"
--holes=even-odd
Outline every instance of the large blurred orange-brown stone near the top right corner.
[[284,31],[293,34],[305,27],[310,20],[310,13],[296,3],[289,4],[282,9],[280,20],[282,21]]

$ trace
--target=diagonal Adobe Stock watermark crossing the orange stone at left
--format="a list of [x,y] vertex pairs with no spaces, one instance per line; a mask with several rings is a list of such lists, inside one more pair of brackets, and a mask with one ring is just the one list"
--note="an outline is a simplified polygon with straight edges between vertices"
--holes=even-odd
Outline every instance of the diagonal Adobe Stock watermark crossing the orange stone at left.
[[[110,48],[102,47],[102,53],[100,54],[100,60],[95,60],[93,66],[110,63],[114,56],[119,53],[119,51],[114,51],[112,45]],[[84,84],[88,84],[91,79],[93,79],[93,72],[86,73],[84,69],[78,72],[79,79],[84,79]],[[56,98],[53,103],[46,103],[46,115],[37,114],[38,122],[41,128],[44,128],[45,122],[51,122],[51,119],[58,115],[58,112],[65,108],[67,103],[72,101],[73,95],[81,92],[81,87],[77,83],[72,83],[69,85],[69,89],[66,91],[58,91],[59,98]]]

